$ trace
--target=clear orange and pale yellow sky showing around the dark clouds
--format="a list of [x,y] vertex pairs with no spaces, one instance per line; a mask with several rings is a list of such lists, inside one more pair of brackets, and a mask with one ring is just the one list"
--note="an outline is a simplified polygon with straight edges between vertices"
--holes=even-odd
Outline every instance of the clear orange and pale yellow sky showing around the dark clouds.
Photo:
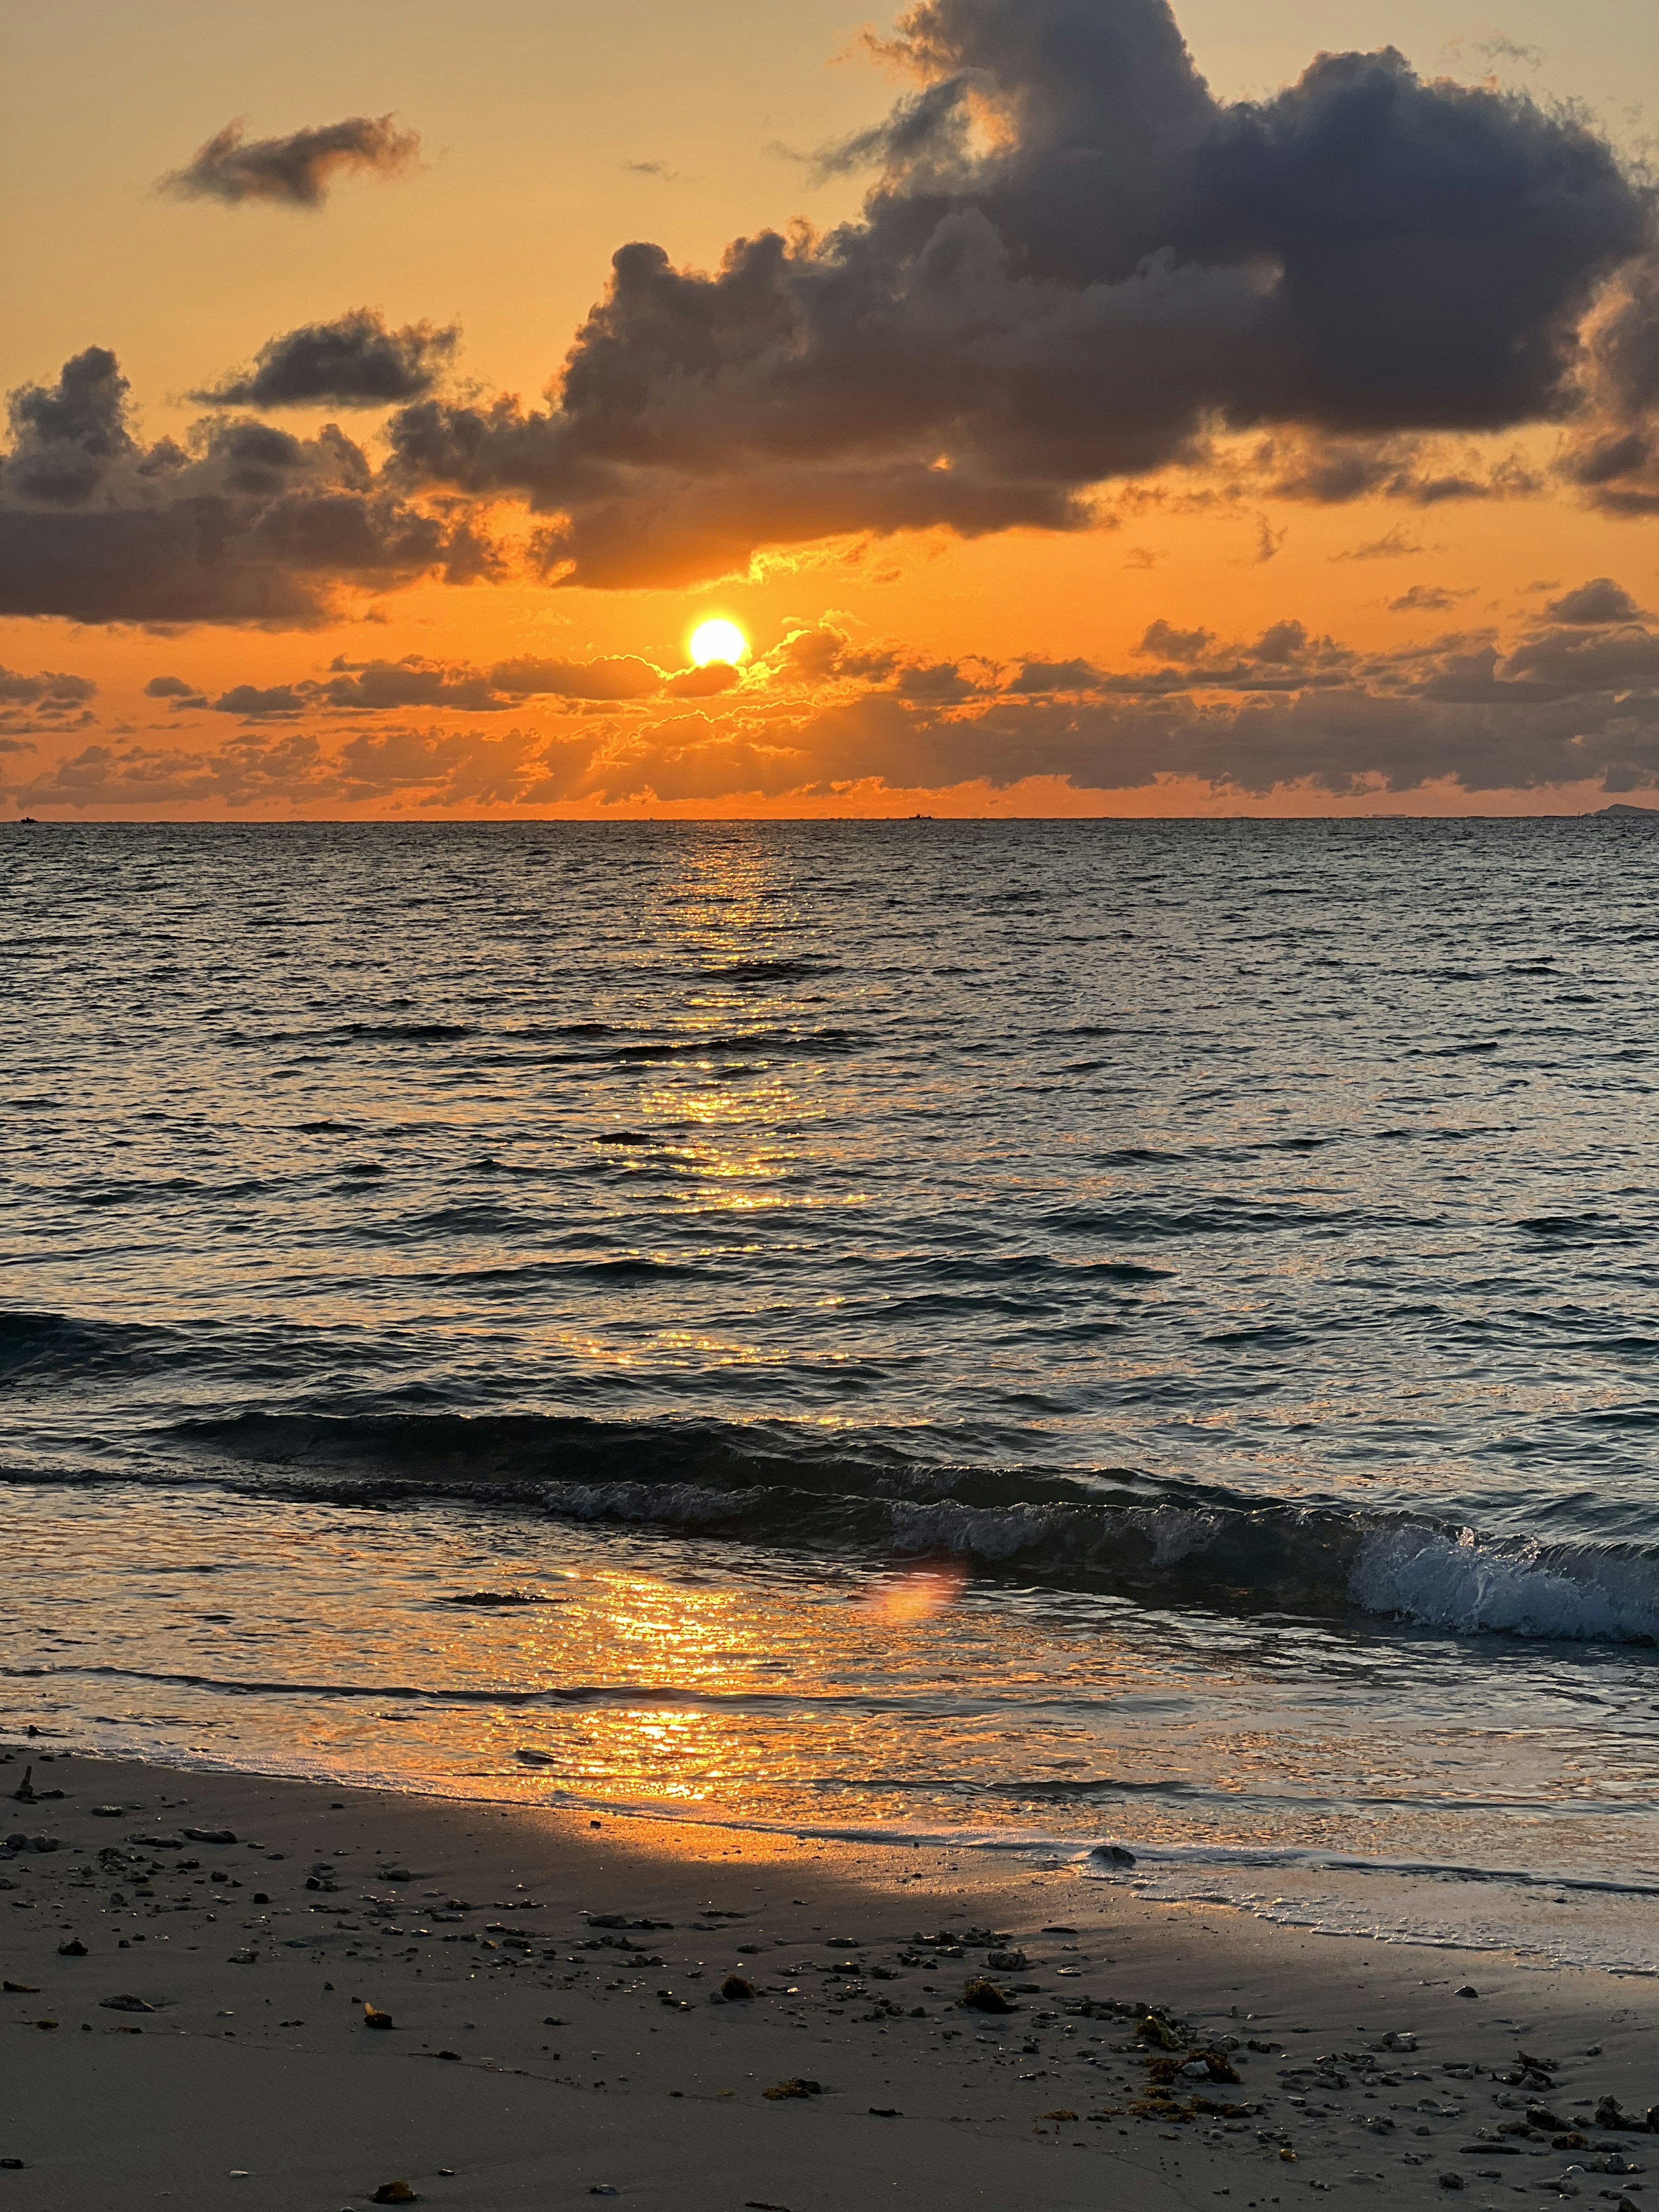
[[[1571,11],[1524,0],[1502,22],[1420,0],[1281,4],[1248,29],[1219,0],[1179,13],[1221,100],[1294,80],[1318,46],[1389,42],[1425,75],[1579,97],[1621,142],[1639,135],[1632,104],[1659,91],[1635,0]],[[869,175],[814,181],[792,155],[869,126],[902,91],[867,58],[847,58],[858,29],[816,0],[792,11],[728,0],[697,15],[498,0],[465,24],[429,0],[369,4],[349,20],[314,4],[219,11],[164,0],[144,24],[108,0],[71,0],[18,31],[13,100],[27,88],[27,111],[9,153],[4,250],[20,310],[2,341],[7,385],[51,387],[66,358],[104,345],[131,380],[142,440],[184,438],[204,414],[186,392],[285,330],[374,307],[392,327],[460,325],[447,387],[456,396],[518,392],[538,405],[619,243],[653,237],[675,263],[712,268],[732,237],[768,223],[856,217]],[[420,133],[420,166],[385,179],[343,173],[316,208],[155,190],[232,115],[259,137],[389,111]],[[385,451],[385,409],[314,405],[268,420],[299,438],[338,420],[372,465]],[[0,714],[0,783],[13,810],[135,821],[1577,812],[1648,787],[1646,737],[1621,739],[1621,750],[1593,741],[1590,774],[1557,774],[1546,739],[1528,737],[1524,774],[1482,781],[1469,763],[1486,759],[1486,739],[1469,717],[1486,710],[1462,695],[1447,714],[1464,721],[1422,737],[1449,748],[1444,772],[1420,748],[1409,774],[1394,772],[1378,737],[1374,763],[1345,741],[1352,772],[1325,765],[1310,776],[1292,748],[1290,772],[1263,783],[1267,770],[1245,741],[1237,776],[1225,739],[1221,765],[1206,752],[1208,768],[1194,772],[1190,732],[1164,770],[1148,770],[1146,745],[1126,737],[1117,783],[1117,737],[1099,739],[1084,772],[1055,770],[1075,754],[1071,723],[1095,728],[1093,714],[1106,728],[1104,714],[1117,730],[1110,701],[1157,672],[1159,653],[1146,646],[1155,624],[1208,633],[1192,666],[1210,670],[1248,657],[1274,626],[1301,624],[1296,668],[1312,670],[1329,641],[1347,659],[1332,659],[1338,672],[1325,681],[1383,701],[1451,699],[1444,670],[1482,650],[1500,670],[1517,668],[1502,657],[1555,635],[1548,608],[1588,580],[1610,580],[1628,602],[1595,637],[1635,650],[1648,635],[1641,608],[1659,604],[1655,520],[1608,513],[1559,478],[1571,425],[1440,436],[1413,462],[1420,478],[1455,471],[1509,487],[1502,495],[1427,500],[1396,487],[1332,504],[1285,495],[1283,467],[1263,462],[1265,436],[1230,434],[1190,467],[1113,476],[1091,493],[1093,526],[1075,531],[1015,522],[978,538],[945,526],[889,533],[878,515],[874,529],[763,546],[737,573],[695,584],[573,588],[526,571],[529,533],[544,518],[509,495],[469,509],[500,535],[493,575],[398,577],[396,588],[345,580],[321,622],[0,617],[0,664],[15,679]],[[431,500],[427,511],[453,515],[442,489]],[[741,679],[712,697],[524,692],[471,708],[458,695],[372,710],[343,708],[338,684],[330,695],[341,668],[365,664],[471,670],[482,681],[500,664],[628,655],[672,677],[690,628],[710,613],[752,641]],[[843,670],[878,655],[883,675],[807,681],[801,639],[821,637],[841,639]],[[1413,653],[1425,668],[1440,655],[1438,695],[1411,677]],[[1062,686],[1071,706],[1013,712],[1022,666],[1075,661],[1097,681]],[[947,697],[940,677],[927,692],[929,668],[960,670],[958,690],[969,690]],[[82,684],[42,695],[53,672]],[[175,697],[146,695],[155,679],[177,679]],[[1241,695],[1206,681],[1199,721],[1237,714]],[[1601,686],[1599,721],[1586,710],[1586,730],[1610,717],[1659,719],[1646,714],[1635,677],[1619,681],[1617,714]],[[889,712],[896,684],[911,692]],[[239,690],[288,692],[294,703],[237,712],[223,701]],[[1250,686],[1243,701],[1274,714],[1283,706]],[[865,708],[867,728],[849,737],[849,717]],[[987,708],[1009,732],[991,752]],[[909,728],[927,732],[914,759]],[[1557,750],[1562,728],[1548,737]],[[757,748],[774,763],[759,776],[745,765]],[[1281,759],[1272,748],[1263,757]],[[1506,757],[1491,739],[1500,770]],[[1624,765],[1610,770],[1615,759]],[[226,761],[246,772],[226,774]],[[557,774],[546,761],[562,763]]]

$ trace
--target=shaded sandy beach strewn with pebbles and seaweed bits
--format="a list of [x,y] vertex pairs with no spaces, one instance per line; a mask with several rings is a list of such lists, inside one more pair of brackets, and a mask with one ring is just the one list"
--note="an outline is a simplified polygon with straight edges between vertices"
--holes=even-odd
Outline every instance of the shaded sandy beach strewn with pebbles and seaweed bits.
[[[62,1798],[13,1801],[29,1763]],[[338,2212],[394,2181],[458,2212],[1265,2212],[1442,2203],[1444,2177],[1469,2208],[1659,2208],[1617,2172],[1659,2137],[1593,2126],[1604,2095],[1659,2097],[1644,1978],[962,1851],[33,1745],[0,1761],[7,1834],[29,1843],[0,1854],[0,1971],[29,1986],[0,1997],[0,2212]],[[991,1949],[1029,1960],[991,1971],[1009,2015],[960,2002]],[[732,1973],[757,1995],[714,2002]],[[1148,2004],[1239,2081],[1181,2075],[1159,2101]],[[1416,2053],[1385,2046],[1405,2031]]]

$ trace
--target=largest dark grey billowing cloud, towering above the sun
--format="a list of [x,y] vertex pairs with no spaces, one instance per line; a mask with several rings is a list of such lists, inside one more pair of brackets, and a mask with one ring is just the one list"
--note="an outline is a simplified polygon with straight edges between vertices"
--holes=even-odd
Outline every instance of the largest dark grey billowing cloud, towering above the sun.
[[[825,157],[878,166],[860,221],[714,274],[624,246],[549,407],[418,403],[398,480],[526,500],[549,573],[597,586],[1082,529],[1217,425],[1274,434],[1285,495],[1513,495],[1517,462],[1422,436],[1579,405],[1577,327],[1650,239],[1588,124],[1394,51],[1239,104],[1164,0],[922,0],[887,51],[918,91]],[[1639,345],[1601,343],[1628,383]]]

